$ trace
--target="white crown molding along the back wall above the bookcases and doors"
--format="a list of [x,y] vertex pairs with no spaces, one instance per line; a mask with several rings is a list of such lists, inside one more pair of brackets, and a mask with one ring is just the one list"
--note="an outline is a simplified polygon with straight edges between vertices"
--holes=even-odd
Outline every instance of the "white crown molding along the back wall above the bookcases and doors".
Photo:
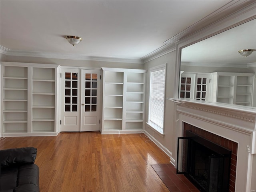
[[[143,64],[140,58],[113,58],[113,57],[96,57],[86,56],[83,54],[61,54],[50,52],[36,52],[36,51],[20,51],[6,49],[7,56],[27,56],[27,57],[40,57],[40,58],[54,58],[54,59],[70,59],[70,60],[90,60],[90,61],[103,61],[103,62],[120,62],[120,63],[135,63]],[[2,50],[2,46],[1,46]]]

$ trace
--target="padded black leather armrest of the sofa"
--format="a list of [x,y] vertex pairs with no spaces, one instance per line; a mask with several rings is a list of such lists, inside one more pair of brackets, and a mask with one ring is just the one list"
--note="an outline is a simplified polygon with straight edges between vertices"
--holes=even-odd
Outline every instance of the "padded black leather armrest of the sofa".
[[1,150],[1,167],[32,164],[36,160],[36,153],[37,149],[34,147]]

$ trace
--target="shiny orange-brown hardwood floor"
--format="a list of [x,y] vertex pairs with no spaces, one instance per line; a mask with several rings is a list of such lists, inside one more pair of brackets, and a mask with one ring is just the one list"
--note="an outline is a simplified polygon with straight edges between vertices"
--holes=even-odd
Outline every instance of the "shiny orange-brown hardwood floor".
[[150,165],[170,158],[147,140],[140,134],[61,132],[8,137],[0,146],[37,148],[41,192],[168,192]]

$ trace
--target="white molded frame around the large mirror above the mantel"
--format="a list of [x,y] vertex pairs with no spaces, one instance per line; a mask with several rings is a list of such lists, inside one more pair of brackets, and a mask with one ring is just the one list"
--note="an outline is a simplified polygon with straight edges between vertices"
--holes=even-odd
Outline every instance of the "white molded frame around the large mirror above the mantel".
[[[179,40],[176,44],[176,66],[175,66],[175,87],[174,87],[174,99],[179,98],[179,85],[180,85],[180,61],[181,61],[181,50],[187,46],[210,38],[216,34],[220,34],[226,30],[244,24],[250,20],[256,19],[256,3],[252,4],[251,6],[247,6],[242,10],[238,10],[234,14],[223,18],[222,20],[216,23],[209,23],[207,28],[203,28],[198,30],[196,33],[193,33],[190,36],[186,36]],[[180,99],[182,100],[182,99]],[[192,100],[192,99],[191,99]],[[195,100],[193,100],[195,101]],[[207,104],[211,104],[211,102],[207,102]],[[218,102],[214,102],[218,103]],[[246,108],[246,107],[245,107]]]

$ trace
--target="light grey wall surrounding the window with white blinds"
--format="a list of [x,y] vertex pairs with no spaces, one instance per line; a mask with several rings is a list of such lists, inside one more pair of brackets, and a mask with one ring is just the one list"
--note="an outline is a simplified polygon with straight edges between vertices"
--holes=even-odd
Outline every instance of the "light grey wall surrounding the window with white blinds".
[[[170,52],[164,56],[151,60],[145,63],[145,69],[148,70],[147,85],[146,85],[146,109],[145,118],[148,121],[148,101],[149,101],[149,83],[150,83],[150,68],[166,63],[166,95],[165,98],[172,98],[174,96],[174,76],[175,76],[175,58],[176,51]],[[156,144],[158,144],[164,151],[172,158],[172,154],[175,151],[175,130],[174,124],[174,103],[170,100],[165,100],[165,114],[164,114],[164,137],[154,131],[147,124],[145,130],[150,134],[150,137]]]

